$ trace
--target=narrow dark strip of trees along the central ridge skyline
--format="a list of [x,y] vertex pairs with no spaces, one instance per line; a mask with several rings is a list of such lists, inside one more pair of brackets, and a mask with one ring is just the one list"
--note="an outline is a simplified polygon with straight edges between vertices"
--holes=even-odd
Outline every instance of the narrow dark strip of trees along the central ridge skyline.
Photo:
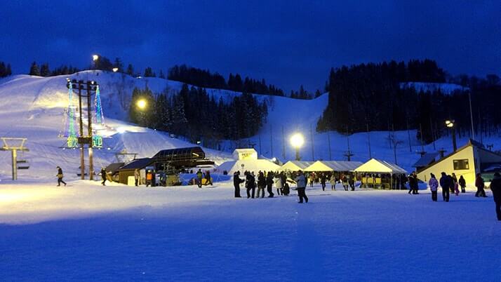
[[283,96],[283,90],[272,84],[267,84],[265,79],[255,80],[246,77],[242,79],[240,74],[229,74],[228,81],[217,72],[211,73],[205,69],[188,67],[187,65],[175,65],[168,70],[167,78],[203,88],[218,88],[233,90],[236,92],[268,94]]

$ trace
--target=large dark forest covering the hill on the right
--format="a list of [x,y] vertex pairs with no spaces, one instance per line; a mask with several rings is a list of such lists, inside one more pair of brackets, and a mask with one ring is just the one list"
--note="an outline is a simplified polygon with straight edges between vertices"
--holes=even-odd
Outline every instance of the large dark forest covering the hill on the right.
[[[497,76],[495,76],[497,77]],[[474,119],[481,125],[497,126],[501,116],[493,105],[501,102],[500,86],[494,76],[489,79],[459,76],[453,83],[464,90],[442,93],[441,90],[418,92],[401,88],[405,81],[445,82],[446,73],[432,60],[382,62],[331,69],[328,79],[328,107],[317,124],[317,130],[355,133],[369,130],[405,130],[422,128],[422,139],[431,142],[445,133],[444,121],[454,119],[463,134],[471,128],[469,98],[471,91]],[[494,81],[494,82],[493,82]],[[496,95],[497,93],[497,95]],[[480,110],[481,109],[481,110]],[[471,131],[471,130],[470,130]]]

